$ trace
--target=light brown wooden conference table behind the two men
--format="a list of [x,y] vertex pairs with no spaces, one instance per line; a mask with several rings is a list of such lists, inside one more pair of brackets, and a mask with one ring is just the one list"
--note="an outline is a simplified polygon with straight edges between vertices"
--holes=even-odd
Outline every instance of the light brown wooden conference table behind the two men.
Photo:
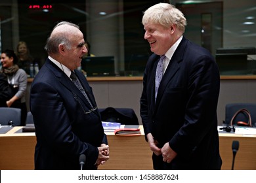
[[[106,132],[110,146],[110,159],[104,165],[100,165],[99,169],[152,169],[152,152],[144,139],[142,125],[139,127],[140,136],[117,136],[113,132]],[[22,127],[7,126],[1,126],[0,132],[0,169],[34,169],[35,133],[22,133]],[[223,159],[221,169],[231,169],[233,159],[232,142],[239,141],[240,146],[236,153],[234,169],[256,170],[256,135],[219,133],[219,140],[219,149]]]

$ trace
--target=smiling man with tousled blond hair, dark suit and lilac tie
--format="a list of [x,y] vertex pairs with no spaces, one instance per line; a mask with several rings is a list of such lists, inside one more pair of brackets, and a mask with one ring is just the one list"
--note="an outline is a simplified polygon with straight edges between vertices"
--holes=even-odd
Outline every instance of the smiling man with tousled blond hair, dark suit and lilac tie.
[[154,54],[144,71],[140,116],[154,169],[221,169],[213,56],[182,35],[186,18],[173,5],[148,8],[142,24]]

